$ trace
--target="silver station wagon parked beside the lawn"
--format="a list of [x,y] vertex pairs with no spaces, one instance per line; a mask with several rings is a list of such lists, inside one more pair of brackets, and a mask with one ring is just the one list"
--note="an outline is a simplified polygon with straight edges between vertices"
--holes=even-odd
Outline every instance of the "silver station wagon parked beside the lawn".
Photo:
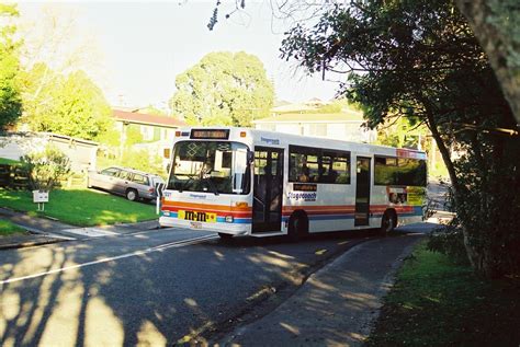
[[163,182],[161,177],[143,171],[111,166],[99,172],[90,171],[87,186],[123,195],[128,200],[135,201],[155,199],[157,197],[155,184]]

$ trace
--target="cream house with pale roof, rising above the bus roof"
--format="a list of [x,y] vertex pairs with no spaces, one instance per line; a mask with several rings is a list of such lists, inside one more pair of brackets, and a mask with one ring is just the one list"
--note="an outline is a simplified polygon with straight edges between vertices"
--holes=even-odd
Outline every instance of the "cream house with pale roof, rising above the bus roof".
[[330,114],[275,113],[269,118],[253,120],[255,128],[261,130],[373,143],[377,131],[363,128],[363,115],[350,109]]

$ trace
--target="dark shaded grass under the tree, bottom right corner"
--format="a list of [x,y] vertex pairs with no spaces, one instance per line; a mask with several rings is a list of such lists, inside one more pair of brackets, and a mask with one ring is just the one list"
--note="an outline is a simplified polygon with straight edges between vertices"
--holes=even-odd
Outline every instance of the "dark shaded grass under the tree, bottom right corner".
[[478,279],[421,243],[397,274],[368,346],[519,346],[519,281]]

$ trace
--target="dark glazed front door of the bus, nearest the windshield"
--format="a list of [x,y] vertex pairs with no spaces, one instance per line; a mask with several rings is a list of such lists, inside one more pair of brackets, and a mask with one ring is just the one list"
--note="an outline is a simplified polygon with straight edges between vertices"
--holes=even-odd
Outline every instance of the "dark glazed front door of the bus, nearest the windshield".
[[252,232],[282,228],[283,149],[255,148]]

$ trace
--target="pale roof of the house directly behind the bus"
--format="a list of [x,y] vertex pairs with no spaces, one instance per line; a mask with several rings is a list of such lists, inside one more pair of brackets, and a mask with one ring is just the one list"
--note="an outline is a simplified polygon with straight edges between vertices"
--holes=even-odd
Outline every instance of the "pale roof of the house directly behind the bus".
[[346,123],[363,122],[363,114],[354,111],[347,113],[286,113],[268,118],[257,119],[253,123]]

